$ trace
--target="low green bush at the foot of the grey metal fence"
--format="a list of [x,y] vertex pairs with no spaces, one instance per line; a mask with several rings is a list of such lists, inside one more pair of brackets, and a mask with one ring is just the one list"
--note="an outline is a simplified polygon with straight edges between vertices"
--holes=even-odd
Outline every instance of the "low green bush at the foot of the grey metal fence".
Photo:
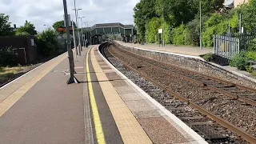
[[246,57],[245,53],[237,54],[230,61],[230,66],[237,67],[238,70],[246,70],[248,66],[249,59]]

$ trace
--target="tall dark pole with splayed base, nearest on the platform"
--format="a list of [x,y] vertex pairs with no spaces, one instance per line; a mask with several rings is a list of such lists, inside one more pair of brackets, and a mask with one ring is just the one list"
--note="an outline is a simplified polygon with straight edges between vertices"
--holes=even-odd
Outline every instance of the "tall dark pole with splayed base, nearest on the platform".
[[64,7],[64,15],[65,15],[65,23],[66,23],[66,42],[67,42],[67,51],[69,54],[69,62],[70,62],[70,79],[66,82],[67,84],[71,83],[78,83],[77,78],[74,77],[74,58],[73,58],[73,51],[71,49],[71,41],[70,41],[70,25],[69,25],[69,18],[67,15],[67,8],[66,8],[66,0],[63,0],[63,7]]

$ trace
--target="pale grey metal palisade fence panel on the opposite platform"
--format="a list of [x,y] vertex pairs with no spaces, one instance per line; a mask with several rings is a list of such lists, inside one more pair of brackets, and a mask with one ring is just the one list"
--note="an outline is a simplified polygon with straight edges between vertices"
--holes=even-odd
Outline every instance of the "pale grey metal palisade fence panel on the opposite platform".
[[240,52],[240,39],[230,36],[214,35],[214,54],[224,58],[233,58]]

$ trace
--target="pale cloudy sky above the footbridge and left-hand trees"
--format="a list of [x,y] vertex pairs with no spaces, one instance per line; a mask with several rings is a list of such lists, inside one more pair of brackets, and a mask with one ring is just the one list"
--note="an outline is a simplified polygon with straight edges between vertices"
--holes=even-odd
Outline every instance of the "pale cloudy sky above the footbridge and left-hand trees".
[[[74,19],[74,0],[66,0],[68,13]],[[140,0],[76,0],[78,16],[86,17],[89,26],[95,23],[121,22],[134,24],[133,8]],[[32,22],[41,31],[48,25],[63,19],[62,0],[0,0],[0,13],[10,16],[10,22],[17,26],[25,21]],[[81,22],[80,22],[81,23]]]

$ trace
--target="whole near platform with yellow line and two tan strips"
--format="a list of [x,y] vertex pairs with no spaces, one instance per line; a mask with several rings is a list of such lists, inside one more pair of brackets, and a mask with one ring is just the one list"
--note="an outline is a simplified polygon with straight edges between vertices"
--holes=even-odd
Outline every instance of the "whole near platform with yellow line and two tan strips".
[[207,143],[91,46],[0,88],[0,143]]

